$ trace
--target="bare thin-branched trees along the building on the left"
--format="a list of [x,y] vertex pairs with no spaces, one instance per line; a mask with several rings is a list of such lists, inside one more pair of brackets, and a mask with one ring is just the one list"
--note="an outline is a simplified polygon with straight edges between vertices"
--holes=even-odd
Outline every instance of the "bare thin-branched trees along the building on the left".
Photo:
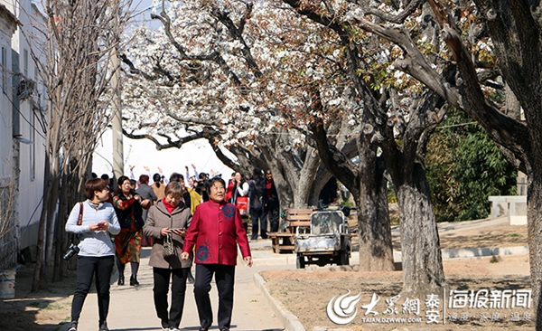
[[32,45],[47,109],[38,112],[45,133],[46,164],[33,290],[65,274],[61,260],[69,241],[64,224],[82,198],[91,157],[110,116],[109,55],[118,46],[129,1],[42,3],[45,17],[23,29]]

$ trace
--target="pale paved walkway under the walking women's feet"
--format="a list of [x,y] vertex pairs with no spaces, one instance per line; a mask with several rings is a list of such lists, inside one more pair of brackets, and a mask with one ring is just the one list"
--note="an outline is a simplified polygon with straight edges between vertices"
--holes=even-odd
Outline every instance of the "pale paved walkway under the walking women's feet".
[[[266,246],[268,241],[256,241],[251,245]],[[266,250],[267,251],[267,250]],[[117,272],[113,275],[115,283],[111,286],[111,303],[109,306],[109,315],[107,325],[111,330],[129,331],[129,330],[162,330],[160,320],[156,317],[153,302],[153,271],[148,265],[150,248],[143,248],[141,254],[141,265],[137,280],[140,286],[132,287],[129,285],[117,285]],[[272,254],[272,253],[271,253]],[[253,268],[246,267],[238,262],[236,269],[235,298],[232,317],[232,330],[283,330],[284,326],[280,322],[273,309],[268,306],[266,298],[254,283],[254,274],[261,270],[269,269],[295,269],[295,265],[290,266],[265,266],[261,260],[255,260]],[[129,266],[126,267],[126,284],[129,281]],[[193,268],[192,268],[193,270]],[[113,280],[112,279],[112,280]],[[216,325],[218,310],[218,293],[214,281],[211,283],[210,298],[213,307],[215,319],[211,330],[218,330]],[[184,312],[182,314],[182,330],[198,330],[200,327],[198,312],[193,296],[193,286],[187,285],[186,299],[184,302]],[[65,331],[67,325],[62,326],[61,331]],[[85,305],[79,318],[79,331],[97,331],[98,330],[98,299],[94,287],[92,293],[85,300]]]

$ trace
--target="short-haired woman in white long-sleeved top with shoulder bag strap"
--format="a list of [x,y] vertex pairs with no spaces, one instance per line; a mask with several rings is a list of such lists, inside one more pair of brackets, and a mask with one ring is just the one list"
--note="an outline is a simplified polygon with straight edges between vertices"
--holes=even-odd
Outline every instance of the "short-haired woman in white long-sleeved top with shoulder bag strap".
[[79,316],[93,278],[96,279],[98,293],[99,331],[107,331],[109,288],[115,266],[115,249],[110,235],[120,232],[120,226],[113,205],[106,202],[106,181],[101,178],[89,179],[85,183],[85,195],[88,200],[76,204],[66,222],[66,232],[79,237],[77,289],[71,302],[68,331],[77,331]]

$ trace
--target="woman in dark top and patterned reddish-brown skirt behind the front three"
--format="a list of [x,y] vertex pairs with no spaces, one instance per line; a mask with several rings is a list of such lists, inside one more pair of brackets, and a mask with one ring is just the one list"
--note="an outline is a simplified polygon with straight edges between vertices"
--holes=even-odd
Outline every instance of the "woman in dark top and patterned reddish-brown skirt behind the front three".
[[141,228],[143,222],[143,209],[151,206],[149,200],[135,194],[126,175],[118,178],[118,194],[113,197],[113,206],[117,213],[120,233],[115,236],[117,251],[118,285],[125,284],[124,270],[126,263],[130,262],[132,275],[130,285],[138,286],[137,271],[139,270],[139,254],[141,252]]

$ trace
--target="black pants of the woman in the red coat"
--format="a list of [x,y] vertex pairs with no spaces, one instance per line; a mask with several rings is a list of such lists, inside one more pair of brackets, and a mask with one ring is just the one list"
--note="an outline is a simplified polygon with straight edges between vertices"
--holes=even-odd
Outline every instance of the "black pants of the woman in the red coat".
[[208,329],[212,325],[212,309],[210,307],[210,280],[215,276],[219,291],[219,328],[231,325],[231,312],[233,309],[233,282],[235,280],[235,266],[221,264],[196,264],[196,281],[194,283],[194,297],[198,306],[200,325]]

